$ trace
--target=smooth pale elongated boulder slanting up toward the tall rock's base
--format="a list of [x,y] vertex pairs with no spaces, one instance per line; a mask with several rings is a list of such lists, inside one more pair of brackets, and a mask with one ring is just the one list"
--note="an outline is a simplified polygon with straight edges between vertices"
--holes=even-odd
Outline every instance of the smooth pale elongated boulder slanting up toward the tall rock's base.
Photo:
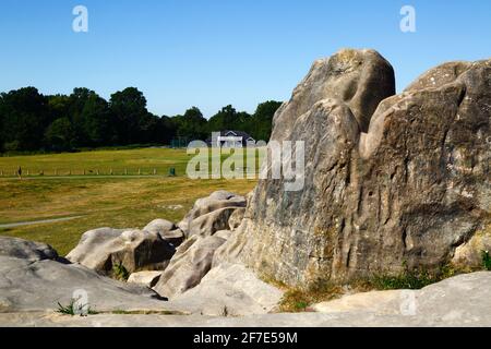
[[154,290],[172,299],[200,284],[209,272],[213,255],[226,240],[219,237],[192,236],[176,251]]

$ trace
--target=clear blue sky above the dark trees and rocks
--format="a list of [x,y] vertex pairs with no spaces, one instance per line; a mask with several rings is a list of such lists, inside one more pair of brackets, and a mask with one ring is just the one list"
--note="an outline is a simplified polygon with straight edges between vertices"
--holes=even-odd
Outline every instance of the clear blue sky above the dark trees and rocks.
[[[88,33],[72,31],[77,4]],[[416,33],[399,31],[405,4]],[[379,50],[400,91],[443,61],[491,57],[490,13],[489,0],[2,0],[0,91],[109,98],[135,86],[157,115],[252,112],[288,99],[313,60],[343,47]]]

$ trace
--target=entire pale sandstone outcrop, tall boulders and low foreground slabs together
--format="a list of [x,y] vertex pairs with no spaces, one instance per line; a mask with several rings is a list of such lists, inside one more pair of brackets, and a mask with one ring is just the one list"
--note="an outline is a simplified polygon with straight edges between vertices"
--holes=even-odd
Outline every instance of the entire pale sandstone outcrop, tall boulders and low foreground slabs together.
[[[301,191],[288,191],[285,178],[260,180],[248,200],[218,191],[177,225],[87,231],[68,260],[43,243],[0,238],[0,324],[94,325],[44,313],[80,288],[96,310],[192,314],[103,314],[97,325],[491,324],[490,273],[412,292],[410,316],[403,290],[262,315],[283,292],[258,278],[308,286],[479,266],[491,246],[490,129],[491,60],[442,64],[395,95],[394,71],[378,52],[342,50],[316,61],[274,117],[273,141],[304,142]],[[105,277],[117,265],[144,272],[129,284]]]

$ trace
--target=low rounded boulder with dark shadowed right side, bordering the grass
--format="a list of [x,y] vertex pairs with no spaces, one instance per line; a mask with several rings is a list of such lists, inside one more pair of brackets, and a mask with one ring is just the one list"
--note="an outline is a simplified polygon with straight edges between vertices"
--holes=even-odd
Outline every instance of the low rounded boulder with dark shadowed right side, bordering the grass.
[[85,232],[67,258],[100,274],[122,265],[129,273],[164,269],[176,252],[155,231],[100,228]]

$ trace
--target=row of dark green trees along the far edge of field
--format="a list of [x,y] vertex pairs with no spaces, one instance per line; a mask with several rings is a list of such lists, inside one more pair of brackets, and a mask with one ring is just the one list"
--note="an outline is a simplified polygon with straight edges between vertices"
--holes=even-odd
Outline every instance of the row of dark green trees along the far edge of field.
[[43,95],[35,87],[0,94],[0,152],[65,152],[82,147],[165,144],[206,140],[212,132],[244,131],[270,140],[272,119],[282,103],[268,100],[250,115],[232,106],[209,120],[196,107],[173,117],[155,116],[135,87],[104,99],[88,88]]

